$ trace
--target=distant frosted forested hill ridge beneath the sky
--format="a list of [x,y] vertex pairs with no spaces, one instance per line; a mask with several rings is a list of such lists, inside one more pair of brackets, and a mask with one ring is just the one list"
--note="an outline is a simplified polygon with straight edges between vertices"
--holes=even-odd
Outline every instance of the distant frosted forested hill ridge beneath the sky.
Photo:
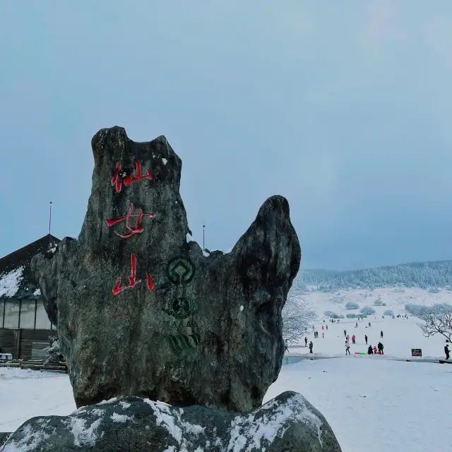
[[[452,261],[412,262],[363,270],[300,270],[293,288],[330,292],[338,289],[420,287],[434,290],[452,286]],[[311,289],[313,290],[313,289]]]

